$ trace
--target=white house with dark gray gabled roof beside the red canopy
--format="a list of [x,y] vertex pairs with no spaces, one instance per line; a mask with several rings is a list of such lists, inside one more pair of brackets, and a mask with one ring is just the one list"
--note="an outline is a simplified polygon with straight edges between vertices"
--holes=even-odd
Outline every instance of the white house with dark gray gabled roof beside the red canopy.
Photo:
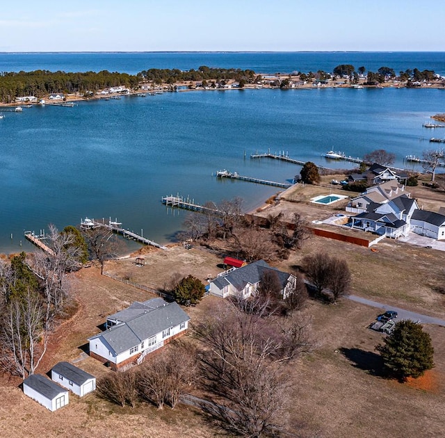
[[272,268],[264,260],[255,261],[241,268],[232,268],[209,280],[209,292],[222,298],[229,295],[243,299],[249,298],[257,291],[264,273],[273,271],[282,284],[282,294],[286,298],[288,291],[295,286],[296,277]]

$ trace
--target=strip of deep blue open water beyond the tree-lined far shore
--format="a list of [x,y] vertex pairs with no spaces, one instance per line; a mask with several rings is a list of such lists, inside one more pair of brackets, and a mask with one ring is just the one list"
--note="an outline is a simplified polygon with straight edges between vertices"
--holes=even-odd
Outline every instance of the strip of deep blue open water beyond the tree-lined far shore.
[[149,68],[197,69],[234,67],[257,73],[332,72],[336,65],[352,64],[376,72],[391,67],[396,73],[407,69],[434,70],[445,75],[444,52],[136,52],[136,53],[0,53],[1,72],[50,70],[56,72],[127,72]]

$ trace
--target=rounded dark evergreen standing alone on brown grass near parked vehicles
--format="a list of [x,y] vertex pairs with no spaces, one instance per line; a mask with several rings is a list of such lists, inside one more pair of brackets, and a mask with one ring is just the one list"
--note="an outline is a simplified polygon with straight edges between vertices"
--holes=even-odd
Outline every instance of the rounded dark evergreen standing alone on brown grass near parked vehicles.
[[398,322],[385,338],[384,345],[379,344],[376,350],[380,352],[389,375],[401,381],[418,378],[434,366],[431,337],[413,321]]

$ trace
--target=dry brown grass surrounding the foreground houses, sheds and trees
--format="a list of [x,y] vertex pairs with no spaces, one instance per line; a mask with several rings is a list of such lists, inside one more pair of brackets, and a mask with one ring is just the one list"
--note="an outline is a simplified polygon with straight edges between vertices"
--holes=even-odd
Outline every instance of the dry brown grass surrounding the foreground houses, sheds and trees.
[[[293,203],[305,208],[305,204]],[[318,206],[317,206],[318,207]],[[323,208],[323,207],[321,207]],[[329,212],[327,212],[329,213]],[[283,270],[298,269],[302,257],[321,250],[346,259],[353,274],[352,292],[432,316],[445,317],[445,295],[435,286],[444,284],[445,254],[397,241],[369,248],[312,237],[288,260],[274,263]],[[109,261],[105,270],[132,282],[163,289],[172,273],[192,274],[205,281],[220,272],[222,257],[200,248],[145,254],[145,266],[134,259]],[[72,275],[76,314],[51,336],[40,366],[46,373],[60,360],[82,359],[76,364],[97,377],[109,373],[81,346],[99,332],[107,314],[134,300],[151,295],[99,275],[99,268],[83,268]],[[192,320],[207,314],[218,298],[205,298],[187,308]],[[314,352],[287,364],[289,409],[286,428],[301,437],[441,437],[445,436],[445,328],[425,326],[435,347],[435,368],[426,376],[405,384],[382,377],[375,346],[382,334],[369,330],[378,312],[341,300],[338,305],[309,301],[316,339]],[[70,405],[51,413],[27,398],[20,381],[2,376],[0,385],[0,437],[219,437],[223,434],[199,412],[185,406],[158,411],[147,405],[120,408],[89,394],[70,396]]]

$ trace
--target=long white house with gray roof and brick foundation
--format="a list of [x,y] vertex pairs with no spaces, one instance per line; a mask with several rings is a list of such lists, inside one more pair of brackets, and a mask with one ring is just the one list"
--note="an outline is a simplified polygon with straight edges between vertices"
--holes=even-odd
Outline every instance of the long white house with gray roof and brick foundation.
[[124,370],[143,362],[154,350],[184,334],[190,317],[177,302],[153,298],[108,316],[107,330],[91,336],[90,356]]

